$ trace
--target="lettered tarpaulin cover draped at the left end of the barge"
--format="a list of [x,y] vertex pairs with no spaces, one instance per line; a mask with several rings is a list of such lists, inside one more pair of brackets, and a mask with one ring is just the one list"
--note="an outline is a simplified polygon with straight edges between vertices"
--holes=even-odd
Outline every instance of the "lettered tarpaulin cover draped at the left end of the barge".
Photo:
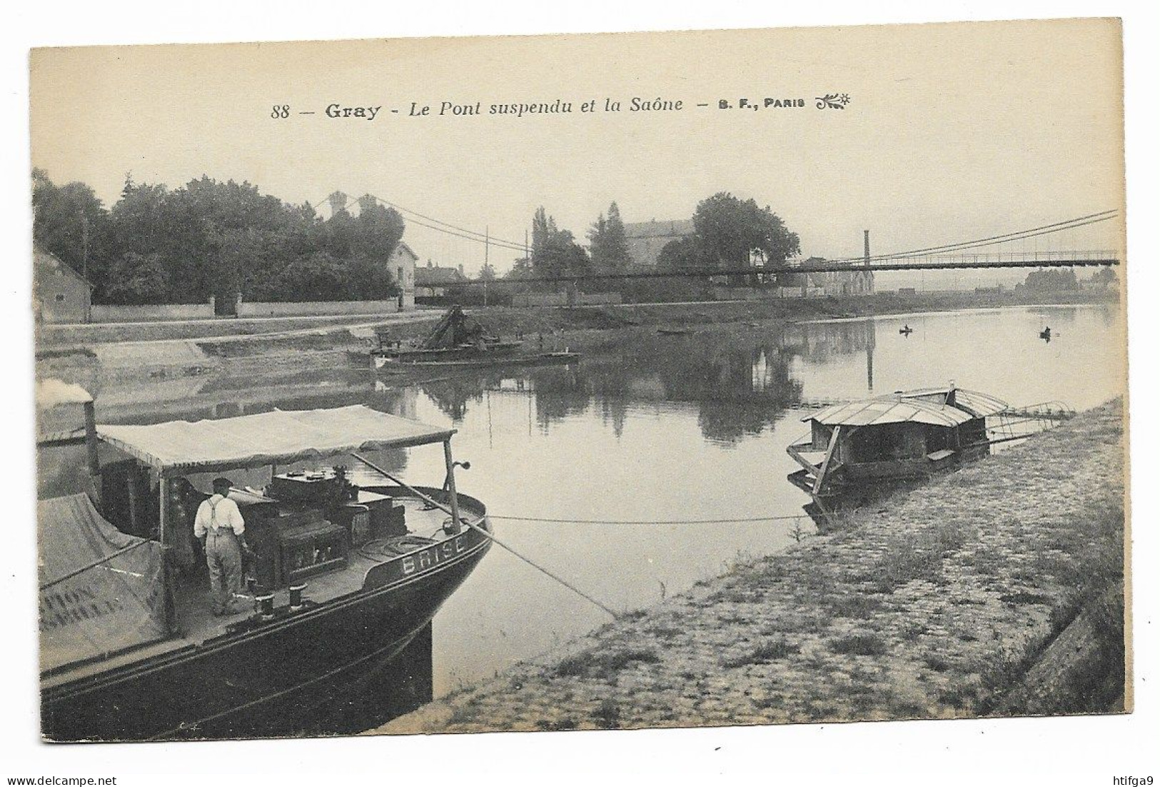
[[41,501],[37,518],[42,670],[166,636],[160,544],[122,533],[86,495]]

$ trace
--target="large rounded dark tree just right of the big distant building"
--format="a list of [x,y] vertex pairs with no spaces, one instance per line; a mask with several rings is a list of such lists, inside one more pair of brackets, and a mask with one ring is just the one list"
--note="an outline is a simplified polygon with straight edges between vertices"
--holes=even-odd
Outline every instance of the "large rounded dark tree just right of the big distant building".
[[797,233],[752,198],[745,202],[727,191],[701,201],[693,226],[706,261],[718,268],[747,268],[757,249],[769,264],[782,264],[800,253]]

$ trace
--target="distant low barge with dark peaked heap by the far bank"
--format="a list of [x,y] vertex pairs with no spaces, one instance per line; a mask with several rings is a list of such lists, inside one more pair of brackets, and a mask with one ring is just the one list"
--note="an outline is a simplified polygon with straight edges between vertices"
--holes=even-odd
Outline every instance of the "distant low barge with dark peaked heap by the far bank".
[[[367,352],[357,354],[365,363]],[[541,366],[574,364],[577,352],[525,351],[522,340],[503,341],[488,335],[481,325],[469,320],[458,306],[452,306],[440,319],[432,333],[418,347],[404,347],[392,340],[389,330],[375,333],[370,350],[371,365],[382,371],[426,369],[473,369],[483,366]]]

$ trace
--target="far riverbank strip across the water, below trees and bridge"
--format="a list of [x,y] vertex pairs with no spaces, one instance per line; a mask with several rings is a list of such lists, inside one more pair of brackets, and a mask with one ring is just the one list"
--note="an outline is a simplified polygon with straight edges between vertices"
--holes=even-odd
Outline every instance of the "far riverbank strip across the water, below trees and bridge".
[[[1001,306],[1114,303],[1104,290],[1068,292],[994,291],[931,292],[899,296],[784,298],[752,301],[626,304],[574,308],[469,308],[493,334],[523,336],[545,348],[600,348],[615,343],[617,329],[697,329],[719,323],[799,322],[912,312],[945,312]],[[292,329],[271,321],[217,320],[200,323],[44,327],[37,347],[46,373],[87,371],[110,378],[198,376],[215,371],[261,372],[263,369],[320,369],[350,363],[349,352],[369,347],[376,327],[407,341],[426,336],[441,311],[390,319],[303,319]],[[281,325],[281,328],[277,329]]]

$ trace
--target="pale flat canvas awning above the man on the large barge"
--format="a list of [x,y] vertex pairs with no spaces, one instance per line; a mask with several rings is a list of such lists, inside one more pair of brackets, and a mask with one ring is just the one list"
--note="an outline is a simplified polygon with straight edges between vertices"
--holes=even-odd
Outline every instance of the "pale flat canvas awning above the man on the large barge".
[[106,443],[162,473],[288,464],[440,443],[455,433],[454,429],[400,418],[364,405],[139,427],[102,424],[96,431]]

